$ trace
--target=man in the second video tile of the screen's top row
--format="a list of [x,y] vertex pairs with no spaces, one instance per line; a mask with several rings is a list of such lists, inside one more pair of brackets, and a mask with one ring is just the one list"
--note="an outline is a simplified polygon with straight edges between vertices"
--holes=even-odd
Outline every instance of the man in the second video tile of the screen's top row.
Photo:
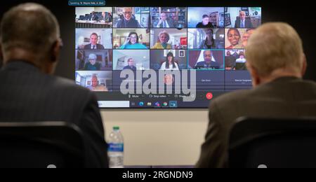
[[138,20],[133,16],[133,10],[131,7],[123,8],[123,17],[117,21],[117,28],[141,28]]

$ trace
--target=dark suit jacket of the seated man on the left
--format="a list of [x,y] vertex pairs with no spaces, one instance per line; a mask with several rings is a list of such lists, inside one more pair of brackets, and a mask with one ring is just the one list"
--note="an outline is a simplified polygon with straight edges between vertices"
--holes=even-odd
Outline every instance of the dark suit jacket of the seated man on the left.
[[86,167],[108,167],[107,144],[95,94],[74,81],[11,62],[0,71],[0,120],[65,121],[79,126],[87,144]]

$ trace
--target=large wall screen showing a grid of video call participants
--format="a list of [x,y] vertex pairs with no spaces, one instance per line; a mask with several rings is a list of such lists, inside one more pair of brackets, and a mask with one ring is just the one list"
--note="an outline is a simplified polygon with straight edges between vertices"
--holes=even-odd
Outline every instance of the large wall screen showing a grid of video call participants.
[[75,7],[75,80],[100,108],[206,108],[249,89],[260,7]]

